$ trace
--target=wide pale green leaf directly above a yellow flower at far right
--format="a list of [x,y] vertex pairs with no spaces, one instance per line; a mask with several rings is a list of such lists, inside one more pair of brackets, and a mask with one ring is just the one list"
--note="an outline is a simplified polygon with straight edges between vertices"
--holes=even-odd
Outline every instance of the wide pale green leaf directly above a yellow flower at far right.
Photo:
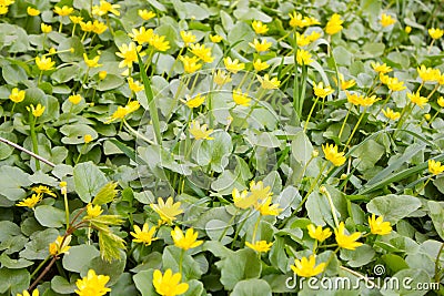
[[411,195],[389,194],[379,196],[370,201],[367,211],[379,216],[384,216],[384,221],[396,224],[403,217],[407,217],[421,206],[420,198]]

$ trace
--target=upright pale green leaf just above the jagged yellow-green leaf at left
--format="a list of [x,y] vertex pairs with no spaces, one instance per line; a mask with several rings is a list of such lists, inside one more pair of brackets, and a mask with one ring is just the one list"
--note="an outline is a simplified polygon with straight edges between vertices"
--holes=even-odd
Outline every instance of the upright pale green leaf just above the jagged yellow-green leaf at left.
[[92,162],[81,163],[73,171],[75,192],[80,200],[89,203],[100,188],[107,184],[107,177]]

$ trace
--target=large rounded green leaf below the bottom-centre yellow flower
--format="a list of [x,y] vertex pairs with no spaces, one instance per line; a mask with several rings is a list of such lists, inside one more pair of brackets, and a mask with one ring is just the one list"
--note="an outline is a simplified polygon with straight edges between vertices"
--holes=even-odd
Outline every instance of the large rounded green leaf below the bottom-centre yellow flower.
[[242,279],[259,278],[262,271],[258,254],[250,248],[236,251],[215,265],[221,269],[220,280],[225,289],[233,289]]

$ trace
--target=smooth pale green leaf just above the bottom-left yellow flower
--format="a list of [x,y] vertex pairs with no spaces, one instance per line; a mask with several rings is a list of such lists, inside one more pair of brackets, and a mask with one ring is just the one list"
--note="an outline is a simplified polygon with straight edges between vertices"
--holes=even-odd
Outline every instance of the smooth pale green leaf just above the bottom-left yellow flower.
[[63,255],[63,268],[70,272],[80,273],[90,261],[100,255],[99,249],[92,245],[72,246],[68,254]]

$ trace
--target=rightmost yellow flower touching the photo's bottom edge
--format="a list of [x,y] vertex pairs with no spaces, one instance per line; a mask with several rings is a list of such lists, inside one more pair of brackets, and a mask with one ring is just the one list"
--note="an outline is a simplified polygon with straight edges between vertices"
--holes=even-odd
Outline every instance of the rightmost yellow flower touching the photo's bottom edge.
[[173,274],[173,272],[168,268],[165,274],[155,269],[153,273],[153,286],[155,292],[161,296],[176,296],[185,293],[189,288],[186,283],[180,283],[182,275],[180,273]]

